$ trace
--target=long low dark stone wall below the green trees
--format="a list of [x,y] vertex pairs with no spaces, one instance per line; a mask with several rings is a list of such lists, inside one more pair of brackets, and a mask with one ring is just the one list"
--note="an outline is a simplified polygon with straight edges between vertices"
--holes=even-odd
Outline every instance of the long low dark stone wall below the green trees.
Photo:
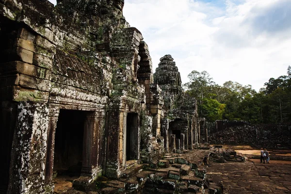
[[224,126],[219,130],[208,128],[210,144],[250,145],[271,149],[291,148],[290,123],[251,125],[225,121]]

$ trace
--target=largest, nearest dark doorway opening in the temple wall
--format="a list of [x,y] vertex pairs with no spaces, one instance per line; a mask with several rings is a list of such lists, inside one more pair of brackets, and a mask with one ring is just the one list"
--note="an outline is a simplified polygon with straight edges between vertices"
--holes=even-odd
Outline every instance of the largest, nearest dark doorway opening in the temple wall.
[[85,111],[60,110],[53,163],[57,176],[81,175],[85,116]]

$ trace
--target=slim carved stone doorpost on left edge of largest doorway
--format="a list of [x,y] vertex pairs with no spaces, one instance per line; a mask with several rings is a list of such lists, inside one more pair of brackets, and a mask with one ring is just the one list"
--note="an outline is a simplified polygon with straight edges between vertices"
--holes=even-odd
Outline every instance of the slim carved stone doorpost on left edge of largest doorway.
[[53,159],[54,159],[54,143],[55,132],[60,109],[57,107],[49,108],[49,128],[48,128],[48,141],[47,141],[47,155],[46,155],[46,184],[52,186],[52,173],[53,173]]

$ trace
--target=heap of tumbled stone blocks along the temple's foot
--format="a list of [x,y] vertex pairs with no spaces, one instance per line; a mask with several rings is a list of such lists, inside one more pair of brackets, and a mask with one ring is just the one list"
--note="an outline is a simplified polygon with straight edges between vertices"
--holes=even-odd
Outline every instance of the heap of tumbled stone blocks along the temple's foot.
[[131,166],[118,180],[97,181],[95,191],[90,187],[85,190],[90,194],[222,194],[222,184],[206,176],[209,156],[209,150],[167,153],[151,165]]

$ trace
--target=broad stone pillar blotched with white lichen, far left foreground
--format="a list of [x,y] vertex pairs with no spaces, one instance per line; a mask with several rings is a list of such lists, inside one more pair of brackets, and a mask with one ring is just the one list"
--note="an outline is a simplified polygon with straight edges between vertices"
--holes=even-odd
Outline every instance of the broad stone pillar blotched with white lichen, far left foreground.
[[[8,194],[40,194],[45,188],[49,108],[38,102],[19,102]],[[17,180],[17,181],[16,181]],[[37,183],[37,184],[35,184]]]

